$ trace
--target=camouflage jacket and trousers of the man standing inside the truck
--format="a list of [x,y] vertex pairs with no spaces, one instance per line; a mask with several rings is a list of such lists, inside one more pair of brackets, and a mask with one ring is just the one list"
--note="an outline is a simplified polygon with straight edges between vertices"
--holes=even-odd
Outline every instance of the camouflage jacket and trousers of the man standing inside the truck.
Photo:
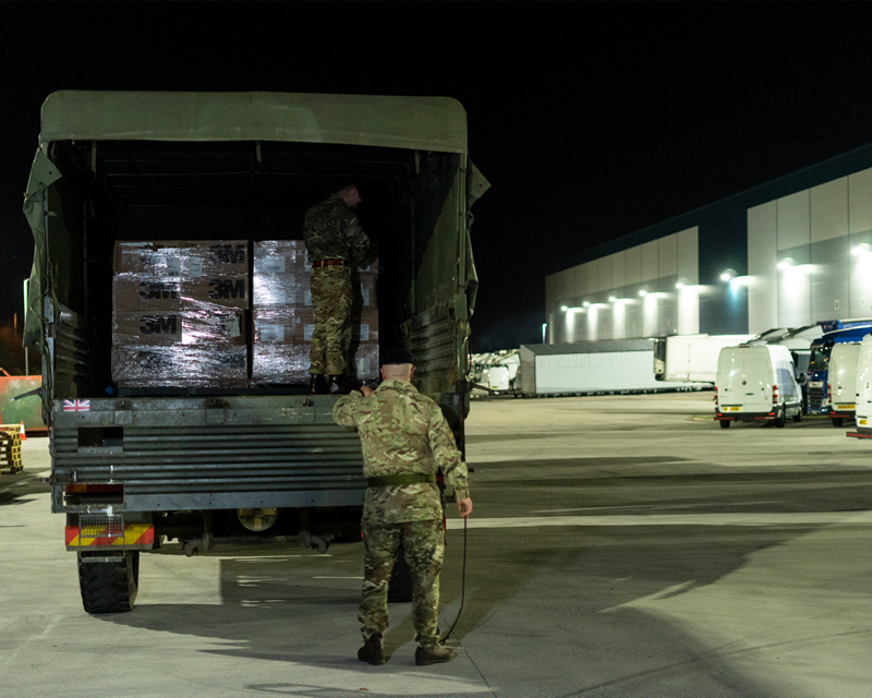
[[366,256],[370,239],[354,212],[338,194],[306,212],[303,237],[311,262],[343,262],[335,266],[313,266],[310,280],[315,329],[308,372],[341,375],[348,366],[351,344],[351,266]]

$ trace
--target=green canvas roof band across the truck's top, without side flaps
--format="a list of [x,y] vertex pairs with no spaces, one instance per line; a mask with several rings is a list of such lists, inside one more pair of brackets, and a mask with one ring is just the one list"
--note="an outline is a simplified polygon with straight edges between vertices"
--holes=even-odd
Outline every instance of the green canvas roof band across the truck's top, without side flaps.
[[40,143],[288,141],[467,153],[467,113],[448,97],[300,93],[52,93]]

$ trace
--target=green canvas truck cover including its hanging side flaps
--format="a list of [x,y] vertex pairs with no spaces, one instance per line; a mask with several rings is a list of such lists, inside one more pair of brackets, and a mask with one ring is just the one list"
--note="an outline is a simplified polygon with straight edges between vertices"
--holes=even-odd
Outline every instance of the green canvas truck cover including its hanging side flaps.
[[[467,160],[467,115],[449,97],[303,93],[58,91],[43,105],[39,148],[25,192],[24,213],[35,254],[25,309],[24,344],[41,339],[46,288],[46,190],[61,173],[48,145],[59,141],[239,142],[272,141],[451,153]],[[489,188],[471,164],[467,207]],[[468,216],[469,222],[472,217]],[[468,231],[469,233],[469,231]],[[477,276],[469,239],[460,251],[463,304],[472,313]],[[63,276],[63,268],[56,274]],[[63,278],[56,286],[64,285]]]

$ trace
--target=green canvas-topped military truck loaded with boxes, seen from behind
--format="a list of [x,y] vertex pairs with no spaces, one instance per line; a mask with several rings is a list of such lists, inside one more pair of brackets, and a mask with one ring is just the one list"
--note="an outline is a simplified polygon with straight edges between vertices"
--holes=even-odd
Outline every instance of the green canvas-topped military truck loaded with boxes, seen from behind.
[[286,93],[46,99],[24,204],[35,240],[25,345],[41,356],[51,510],[66,516],[86,611],[133,607],[141,552],[266,542],[324,551],[355,528],[360,540],[360,441],[331,422],[337,396],[252,380],[210,385],[208,373],[196,384],[122,386],[110,359],[118,244],[241,240],[225,252],[251,265],[252,244],[301,239],[307,207],[349,181],[364,193],[360,218],[378,246],[378,341],[415,356],[415,385],[462,449],[477,287],[470,206],[488,184],[469,159],[460,104]]

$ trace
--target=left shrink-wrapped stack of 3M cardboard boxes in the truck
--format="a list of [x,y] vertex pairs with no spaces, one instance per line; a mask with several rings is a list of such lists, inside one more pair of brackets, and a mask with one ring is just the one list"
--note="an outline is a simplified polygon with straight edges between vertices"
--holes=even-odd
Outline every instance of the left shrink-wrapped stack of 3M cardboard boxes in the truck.
[[249,243],[117,242],[112,378],[125,387],[244,387]]

